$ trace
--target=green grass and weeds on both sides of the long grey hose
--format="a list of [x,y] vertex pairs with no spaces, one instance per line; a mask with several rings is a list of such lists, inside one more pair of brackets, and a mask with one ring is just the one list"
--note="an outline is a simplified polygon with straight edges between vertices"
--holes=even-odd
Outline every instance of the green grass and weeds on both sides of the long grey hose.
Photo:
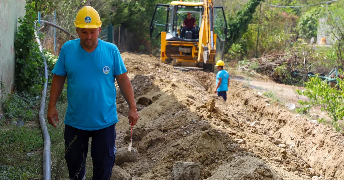
[[[30,93],[14,93],[7,96],[3,103],[5,120],[0,126],[0,179],[42,179],[43,136],[39,124],[39,106],[41,98]],[[45,115],[49,102],[49,89],[45,103]],[[60,123],[54,128],[46,120],[51,140],[52,180],[69,179],[68,168],[64,159],[63,120],[67,109],[66,86],[56,104]],[[32,112],[32,113],[30,113]],[[22,120],[18,127],[13,121]],[[91,142],[91,138],[89,143]],[[93,164],[90,156],[90,144],[86,161],[86,179],[92,179]]]

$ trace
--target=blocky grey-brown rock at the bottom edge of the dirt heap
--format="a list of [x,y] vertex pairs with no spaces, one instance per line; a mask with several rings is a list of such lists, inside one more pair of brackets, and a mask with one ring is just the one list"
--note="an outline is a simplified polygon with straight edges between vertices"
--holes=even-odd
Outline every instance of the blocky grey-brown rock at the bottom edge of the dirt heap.
[[199,180],[202,166],[198,163],[176,161],[171,173],[172,180]]

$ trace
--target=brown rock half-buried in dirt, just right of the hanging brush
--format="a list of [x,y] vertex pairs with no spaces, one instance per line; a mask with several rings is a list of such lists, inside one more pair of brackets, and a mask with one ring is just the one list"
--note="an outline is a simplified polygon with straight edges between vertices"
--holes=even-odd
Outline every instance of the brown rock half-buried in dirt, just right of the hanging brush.
[[145,135],[139,144],[139,153],[146,153],[151,146],[163,143],[165,141],[165,134],[161,131],[152,131]]

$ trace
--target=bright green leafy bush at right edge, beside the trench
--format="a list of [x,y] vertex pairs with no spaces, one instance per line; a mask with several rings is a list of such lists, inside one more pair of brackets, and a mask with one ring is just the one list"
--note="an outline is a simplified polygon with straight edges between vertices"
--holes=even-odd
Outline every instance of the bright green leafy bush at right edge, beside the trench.
[[305,83],[305,90],[295,90],[299,95],[305,95],[309,101],[299,101],[306,106],[321,106],[322,111],[326,111],[336,130],[341,131],[338,121],[344,117],[344,81],[338,79],[338,83],[332,87],[326,81],[318,77],[310,77]]

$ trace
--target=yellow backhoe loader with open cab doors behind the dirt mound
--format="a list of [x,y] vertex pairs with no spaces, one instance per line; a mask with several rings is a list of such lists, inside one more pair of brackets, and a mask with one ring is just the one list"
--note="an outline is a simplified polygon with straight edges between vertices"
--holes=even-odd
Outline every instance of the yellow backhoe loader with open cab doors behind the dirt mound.
[[[196,27],[192,31],[185,28],[181,31],[187,13],[196,20]],[[214,6],[213,0],[157,4],[150,37],[158,39],[159,36],[162,62],[180,67],[203,67],[204,71],[214,72],[216,42],[224,42],[227,36],[223,7]]]

